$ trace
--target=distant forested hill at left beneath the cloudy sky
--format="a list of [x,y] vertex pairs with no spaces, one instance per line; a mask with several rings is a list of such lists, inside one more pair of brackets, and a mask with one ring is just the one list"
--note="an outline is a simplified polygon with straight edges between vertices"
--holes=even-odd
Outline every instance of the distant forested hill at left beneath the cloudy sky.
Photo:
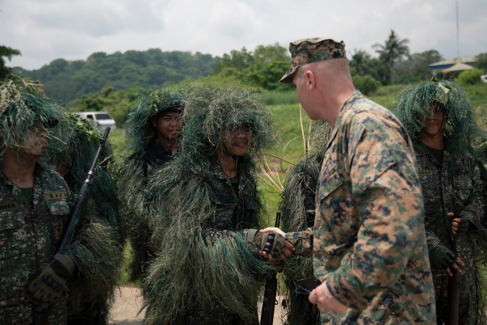
[[59,58],[38,70],[17,68],[14,72],[40,81],[48,97],[68,103],[106,87],[115,91],[134,87],[156,89],[208,76],[215,65],[216,59],[209,54],[150,49],[111,55],[98,52],[76,61]]

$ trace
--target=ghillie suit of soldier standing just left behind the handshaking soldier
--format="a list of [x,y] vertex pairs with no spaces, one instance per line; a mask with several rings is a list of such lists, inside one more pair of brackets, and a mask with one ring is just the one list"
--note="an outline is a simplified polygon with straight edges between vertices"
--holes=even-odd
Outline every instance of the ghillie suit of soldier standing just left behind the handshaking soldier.
[[137,106],[131,110],[124,124],[127,145],[115,167],[120,213],[132,248],[129,266],[131,282],[141,280],[144,265],[153,254],[147,250],[150,229],[147,225],[149,212],[145,194],[148,179],[154,171],[149,165],[145,174],[141,162],[134,157],[143,152],[156,135],[150,118],[169,108],[184,107],[186,99],[182,90],[150,92],[140,89],[137,96]]

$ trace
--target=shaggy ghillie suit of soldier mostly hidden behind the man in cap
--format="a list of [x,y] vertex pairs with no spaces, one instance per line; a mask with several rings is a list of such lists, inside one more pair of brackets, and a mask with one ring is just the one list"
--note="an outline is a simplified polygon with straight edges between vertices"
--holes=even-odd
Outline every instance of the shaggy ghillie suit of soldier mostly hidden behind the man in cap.
[[[303,154],[291,169],[284,185],[280,210],[282,230],[302,231],[314,226],[315,194],[323,155],[332,133],[332,127],[324,121],[314,121],[310,138],[311,150]],[[312,218],[313,220],[310,220]],[[320,324],[319,310],[306,297],[298,296],[296,281],[313,275],[313,260],[296,257],[283,264],[283,305],[285,322],[289,325]]]

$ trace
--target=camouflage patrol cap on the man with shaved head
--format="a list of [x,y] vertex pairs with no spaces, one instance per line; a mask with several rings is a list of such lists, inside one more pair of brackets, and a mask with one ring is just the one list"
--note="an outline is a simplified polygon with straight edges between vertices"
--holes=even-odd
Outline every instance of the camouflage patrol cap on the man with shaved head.
[[306,38],[289,43],[291,52],[291,68],[287,70],[279,82],[293,83],[293,74],[301,65],[329,60],[332,58],[346,58],[345,43],[333,39]]

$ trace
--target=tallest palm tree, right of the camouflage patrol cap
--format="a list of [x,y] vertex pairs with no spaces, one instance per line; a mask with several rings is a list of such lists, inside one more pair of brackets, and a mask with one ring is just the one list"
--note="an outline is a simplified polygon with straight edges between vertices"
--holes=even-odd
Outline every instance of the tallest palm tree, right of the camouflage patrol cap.
[[389,39],[386,39],[384,45],[375,43],[373,48],[378,48],[375,52],[379,53],[379,58],[387,64],[389,73],[391,74],[391,83],[394,84],[394,62],[402,59],[403,57],[409,58],[409,47],[406,45],[409,43],[409,39],[399,39],[395,32],[391,30]]

